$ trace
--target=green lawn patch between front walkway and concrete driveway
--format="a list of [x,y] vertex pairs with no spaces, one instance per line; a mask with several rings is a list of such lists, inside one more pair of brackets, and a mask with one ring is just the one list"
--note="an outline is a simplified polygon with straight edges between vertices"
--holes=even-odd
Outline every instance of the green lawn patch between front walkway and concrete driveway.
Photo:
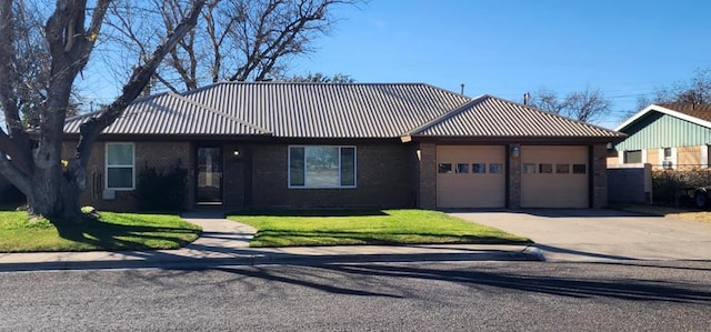
[[269,211],[228,218],[258,230],[250,247],[531,242],[427,210]]

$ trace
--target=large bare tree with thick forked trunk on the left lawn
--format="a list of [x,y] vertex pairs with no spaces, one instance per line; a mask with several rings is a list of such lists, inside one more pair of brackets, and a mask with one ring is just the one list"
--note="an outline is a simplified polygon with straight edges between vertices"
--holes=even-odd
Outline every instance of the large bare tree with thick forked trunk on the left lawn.
[[82,0],[57,1],[43,26],[43,44],[50,59],[49,83],[47,94],[42,95],[39,125],[30,138],[18,108],[18,87],[22,84],[18,63],[22,52],[14,31],[22,17],[16,3],[0,1],[0,36],[6,37],[0,43],[0,107],[7,124],[7,131],[0,129],[0,174],[27,195],[30,213],[80,219],[78,197],[87,184],[86,168],[98,134],[140,94],[166,54],[196,26],[204,4],[204,0],[196,0],[180,23],[138,63],[122,94],[81,125],[76,153],[63,165],[60,162],[63,125],[72,84],[101,36],[110,2],[99,0],[88,10]]

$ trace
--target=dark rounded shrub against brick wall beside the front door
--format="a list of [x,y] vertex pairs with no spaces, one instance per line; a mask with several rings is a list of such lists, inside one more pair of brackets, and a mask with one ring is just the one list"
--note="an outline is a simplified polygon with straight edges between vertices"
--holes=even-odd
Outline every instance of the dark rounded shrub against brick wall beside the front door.
[[186,201],[188,170],[180,159],[166,169],[149,167],[148,162],[138,174],[136,195],[141,211],[180,211]]

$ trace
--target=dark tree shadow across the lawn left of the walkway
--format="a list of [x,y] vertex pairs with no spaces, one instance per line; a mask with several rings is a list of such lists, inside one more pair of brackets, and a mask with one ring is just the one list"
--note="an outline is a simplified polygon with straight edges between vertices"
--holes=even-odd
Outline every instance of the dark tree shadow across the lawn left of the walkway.
[[[200,235],[201,230],[170,227],[126,225],[101,220],[82,222],[50,220],[62,239],[84,243],[94,250],[124,251],[157,249],[147,242],[164,241],[170,248],[179,248],[190,243],[187,234]],[[158,248],[163,249],[163,248]]]

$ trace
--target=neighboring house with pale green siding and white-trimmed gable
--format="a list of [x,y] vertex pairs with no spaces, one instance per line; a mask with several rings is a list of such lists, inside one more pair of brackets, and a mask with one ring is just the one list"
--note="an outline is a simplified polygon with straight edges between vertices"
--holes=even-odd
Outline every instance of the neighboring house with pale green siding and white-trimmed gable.
[[615,131],[628,138],[615,144],[608,164],[650,163],[653,169],[705,169],[711,144],[711,105],[652,104]]

